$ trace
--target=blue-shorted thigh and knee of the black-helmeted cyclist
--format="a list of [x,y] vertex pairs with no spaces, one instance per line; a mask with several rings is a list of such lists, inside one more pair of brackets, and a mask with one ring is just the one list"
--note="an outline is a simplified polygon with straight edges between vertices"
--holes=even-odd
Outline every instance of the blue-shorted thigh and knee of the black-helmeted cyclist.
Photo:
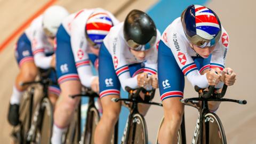
[[100,47],[99,81],[103,111],[113,108],[112,106],[117,107],[117,110],[119,110],[121,103],[113,102],[111,98],[119,98],[121,85],[115,73],[111,55],[104,44]]

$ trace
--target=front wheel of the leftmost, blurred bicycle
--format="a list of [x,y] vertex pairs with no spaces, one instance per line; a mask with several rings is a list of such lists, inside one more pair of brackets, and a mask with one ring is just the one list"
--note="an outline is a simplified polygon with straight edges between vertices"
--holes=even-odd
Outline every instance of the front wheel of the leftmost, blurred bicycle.
[[35,143],[51,143],[53,112],[52,104],[48,98],[38,103],[35,111],[38,120],[35,130]]

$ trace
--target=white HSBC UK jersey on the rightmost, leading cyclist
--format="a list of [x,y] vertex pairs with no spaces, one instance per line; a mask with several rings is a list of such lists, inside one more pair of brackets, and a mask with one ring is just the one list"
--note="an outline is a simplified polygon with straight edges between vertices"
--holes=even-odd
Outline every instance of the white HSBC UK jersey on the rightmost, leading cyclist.
[[[229,39],[227,31],[221,27],[222,34],[219,42],[216,43],[215,49],[211,53],[209,65],[197,68],[193,57],[200,57],[193,49],[191,49],[189,41],[183,31],[181,18],[175,19],[164,31],[161,41],[171,49],[176,62],[182,73],[188,78],[189,82],[195,86],[205,88],[208,85],[206,75],[200,73],[207,68],[225,68],[226,54],[229,47]],[[161,65],[161,64],[160,64]],[[167,67],[166,67],[167,68]],[[161,75],[161,74],[159,74]],[[219,83],[217,88],[222,87],[223,83]]]

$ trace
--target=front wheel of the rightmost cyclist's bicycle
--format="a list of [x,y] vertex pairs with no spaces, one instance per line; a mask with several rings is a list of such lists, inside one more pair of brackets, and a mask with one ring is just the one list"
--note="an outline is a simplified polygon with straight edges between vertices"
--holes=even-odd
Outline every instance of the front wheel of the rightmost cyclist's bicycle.
[[[226,135],[220,118],[214,113],[206,113],[203,118],[203,143],[226,144]],[[199,132],[196,143],[200,143]]]

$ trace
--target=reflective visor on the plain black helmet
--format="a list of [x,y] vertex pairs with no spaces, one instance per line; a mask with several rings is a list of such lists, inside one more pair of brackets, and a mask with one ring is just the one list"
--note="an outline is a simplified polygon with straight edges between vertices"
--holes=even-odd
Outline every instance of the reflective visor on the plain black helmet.
[[130,39],[129,41],[127,41],[127,45],[134,51],[147,51],[149,50],[151,47],[153,47],[153,45],[156,42],[156,36],[153,36],[150,41],[144,45],[138,44],[136,42],[134,42],[132,39]]

